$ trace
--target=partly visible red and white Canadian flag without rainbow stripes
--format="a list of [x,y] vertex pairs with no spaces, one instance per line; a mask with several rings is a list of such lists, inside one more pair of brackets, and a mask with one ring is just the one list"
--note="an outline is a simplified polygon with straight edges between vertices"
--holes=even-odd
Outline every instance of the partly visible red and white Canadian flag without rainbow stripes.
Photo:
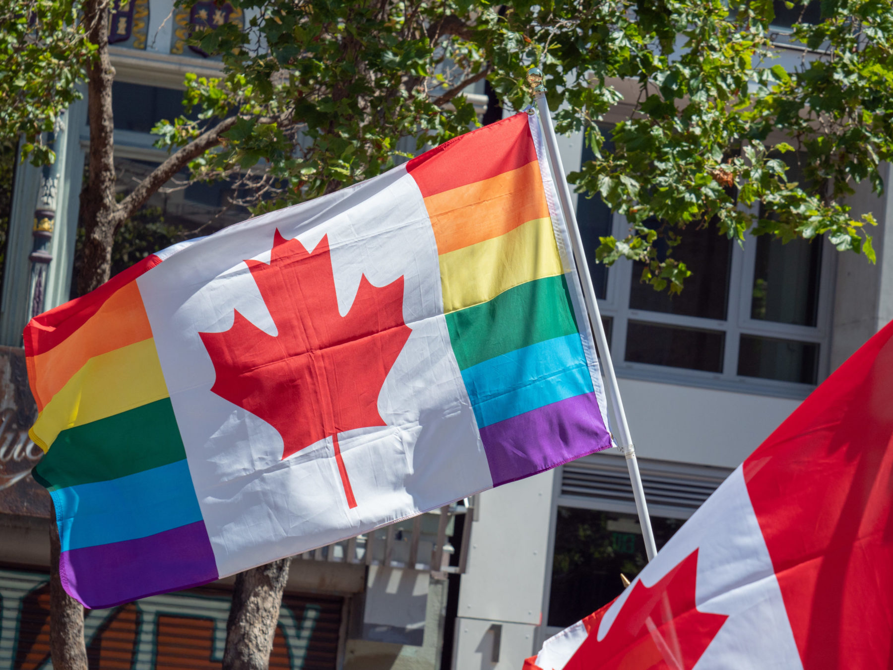
[[525,670],[893,668],[893,323]]

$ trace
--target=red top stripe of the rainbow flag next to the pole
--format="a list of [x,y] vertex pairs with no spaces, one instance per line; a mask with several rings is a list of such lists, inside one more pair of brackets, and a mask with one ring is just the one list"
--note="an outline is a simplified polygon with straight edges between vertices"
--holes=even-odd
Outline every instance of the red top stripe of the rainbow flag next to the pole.
[[487,180],[537,160],[526,113],[460,135],[406,163],[422,197]]

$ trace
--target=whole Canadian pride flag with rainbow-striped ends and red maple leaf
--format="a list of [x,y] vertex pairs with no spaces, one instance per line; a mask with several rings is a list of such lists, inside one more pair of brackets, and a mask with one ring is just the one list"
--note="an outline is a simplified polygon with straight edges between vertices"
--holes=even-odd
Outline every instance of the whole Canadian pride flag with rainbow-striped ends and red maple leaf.
[[188,588],[609,447],[552,179],[518,114],[29,322],[64,588]]

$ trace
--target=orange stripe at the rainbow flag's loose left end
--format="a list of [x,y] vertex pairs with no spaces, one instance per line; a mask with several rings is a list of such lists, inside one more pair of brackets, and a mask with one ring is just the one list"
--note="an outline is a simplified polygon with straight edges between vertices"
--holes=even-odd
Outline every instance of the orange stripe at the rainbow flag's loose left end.
[[87,322],[71,333],[62,343],[31,356],[29,378],[32,392],[43,410],[51,398],[93,356],[106,354],[121,347],[152,337],[143,298],[136,281],[125,284],[105,300]]

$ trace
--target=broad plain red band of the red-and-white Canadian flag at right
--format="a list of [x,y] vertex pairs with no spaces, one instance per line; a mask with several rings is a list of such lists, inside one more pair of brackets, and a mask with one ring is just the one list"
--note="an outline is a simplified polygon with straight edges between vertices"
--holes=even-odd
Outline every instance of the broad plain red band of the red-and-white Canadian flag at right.
[[744,463],[806,668],[893,667],[893,324]]

